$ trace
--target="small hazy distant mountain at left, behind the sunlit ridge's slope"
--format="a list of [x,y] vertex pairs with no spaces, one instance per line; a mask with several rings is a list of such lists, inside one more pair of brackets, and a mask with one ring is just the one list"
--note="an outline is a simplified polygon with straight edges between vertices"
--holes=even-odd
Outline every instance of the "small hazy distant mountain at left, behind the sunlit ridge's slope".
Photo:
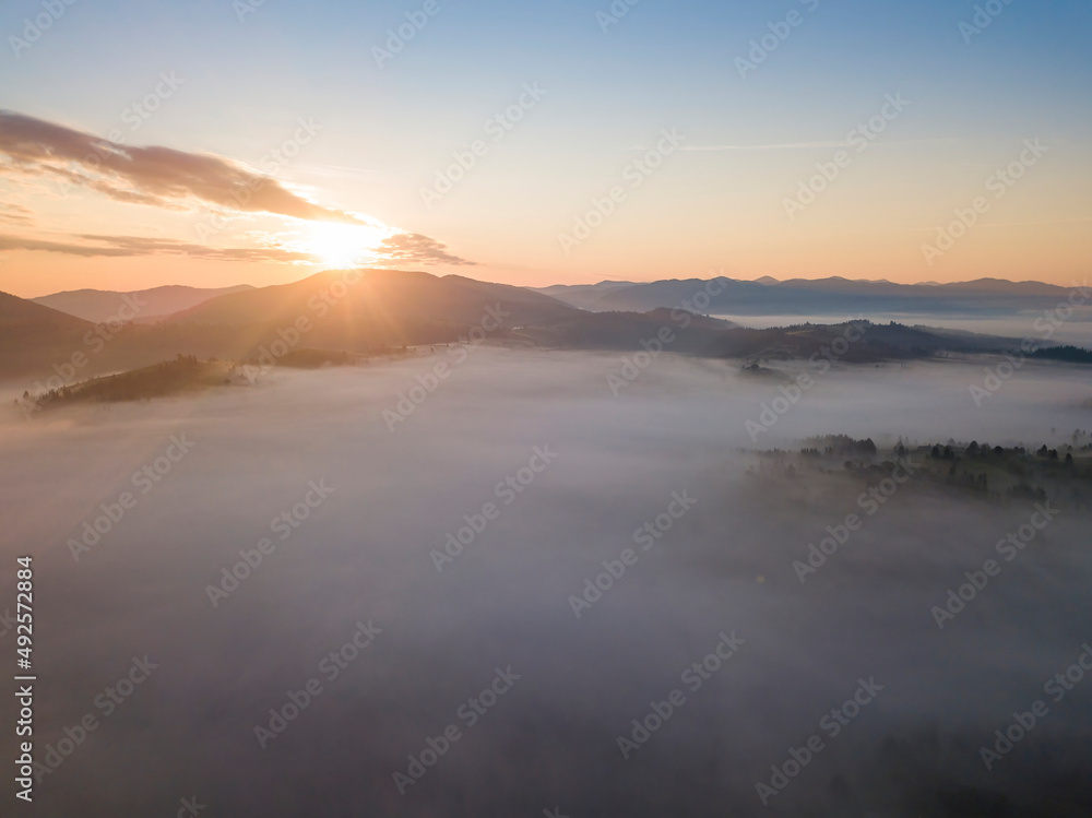
[[118,318],[124,320],[130,315],[134,316],[130,320],[142,323],[149,319],[162,318],[195,307],[216,296],[247,289],[253,289],[253,287],[249,284],[242,284],[236,287],[209,289],[169,285],[128,293],[110,289],[71,289],[31,300],[95,323],[105,323]]

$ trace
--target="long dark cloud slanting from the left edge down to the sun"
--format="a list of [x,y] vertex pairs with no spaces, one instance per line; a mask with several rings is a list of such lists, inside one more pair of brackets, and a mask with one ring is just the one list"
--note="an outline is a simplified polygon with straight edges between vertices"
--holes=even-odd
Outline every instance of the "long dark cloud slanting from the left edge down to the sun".
[[60,177],[117,201],[171,210],[199,200],[236,211],[359,222],[222,156],[133,147],[8,110],[0,110],[0,168]]

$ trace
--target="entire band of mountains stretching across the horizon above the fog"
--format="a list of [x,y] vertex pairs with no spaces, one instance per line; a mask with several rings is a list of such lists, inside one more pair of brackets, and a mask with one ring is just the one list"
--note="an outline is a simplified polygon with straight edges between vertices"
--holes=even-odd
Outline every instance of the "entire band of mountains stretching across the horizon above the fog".
[[[34,300],[0,294],[0,378],[44,383],[47,378],[54,377],[56,382],[60,377],[71,383],[149,366],[178,354],[247,360],[263,349],[273,351],[274,356],[304,348],[369,353],[483,337],[508,344],[619,352],[649,348],[660,339],[663,348],[670,352],[753,363],[814,355],[842,336],[847,324],[802,322],[753,330],[700,313],[722,309],[739,312],[741,301],[732,299],[748,294],[752,309],[764,304],[764,309],[792,313],[785,305],[796,303],[803,310],[800,294],[806,293],[808,313],[820,312],[817,305],[828,304],[843,315],[858,310],[867,315],[869,310],[860,306],[865,301],[913,304],[914,310],[934,311],[941,309],[938,305],[950,308],[953,304],[1029,309],[1040,303],[1056,305],[1067,294],[1061,287],[1045,284],[988,280],[959,285],[842,278],[725,281],[723,286],[713,299],[716,303],[703,306],[695,295],[717,291],[699,280],[602,282],[533,291],[460,275],[360,270],[328,271],[292,284],[258,288],[159,287],[136,294],[80,291]],[[84,320],[40,303],[64,304],[85,316],[102,316],[105,310],[109,318],[117,315],[116,305],[124,304],[127,297],[146,301],[150,312],[164,305],[187,306],[154,322],[119,327],[117,322]],[[693,310],[679,309],[688,300]],[[142,308],[141,317],[146,316]],[[1019,344],[1017,339],[877,322],[867,327],[863,340],[841,359],[859,363],[938,353],[998,353],[1014,351]]]

